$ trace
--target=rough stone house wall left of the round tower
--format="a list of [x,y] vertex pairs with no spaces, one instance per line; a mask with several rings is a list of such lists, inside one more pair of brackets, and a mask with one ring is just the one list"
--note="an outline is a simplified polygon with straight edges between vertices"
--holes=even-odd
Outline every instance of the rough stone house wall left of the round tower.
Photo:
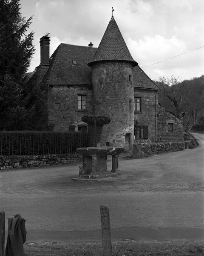
[[[77,110],[77,95],[86,95],[87,109]],[[56,85],[48,88],[48,120],[54,131],[69,131],[69,125],[87,125],[81,117],[91,112],[92,86]],[[55,108],[59,103],[59,109]]]

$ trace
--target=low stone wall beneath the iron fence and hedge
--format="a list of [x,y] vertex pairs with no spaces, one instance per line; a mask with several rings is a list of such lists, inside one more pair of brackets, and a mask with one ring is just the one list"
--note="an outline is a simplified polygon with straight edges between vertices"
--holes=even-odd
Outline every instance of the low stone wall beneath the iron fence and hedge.
[[52,164],[79,163],[79,154],[43,155],[43,156],[0,156],[0,170],[46,166]]

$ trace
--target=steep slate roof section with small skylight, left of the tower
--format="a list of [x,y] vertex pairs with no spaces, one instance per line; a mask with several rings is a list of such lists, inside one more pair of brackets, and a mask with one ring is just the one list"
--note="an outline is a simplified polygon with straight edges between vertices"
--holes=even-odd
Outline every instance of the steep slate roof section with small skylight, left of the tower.
[[48,84],[91,84],[91,67],[87,64],[96,49],[61,43],[51,55],[51,65],[43,81]]

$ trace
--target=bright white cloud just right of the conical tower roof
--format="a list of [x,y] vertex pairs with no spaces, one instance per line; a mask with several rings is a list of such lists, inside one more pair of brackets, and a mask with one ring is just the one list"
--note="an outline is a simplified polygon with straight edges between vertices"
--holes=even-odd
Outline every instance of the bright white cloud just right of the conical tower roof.
[[[171,58],[189,51],[186,44],[175,36],[171,38],[164,38],[161,35],[144,36],[143,39],[138,41],[129,38],[127,45],[133,58],[139,63],[140,67],[144,67],[144,72],[151,79],[171,75],[180,76],[182,79],[190,79],[192,73],[195,76],[201,76],[204,73],[202,72],[204,48]],[[168,60],[163,61],[166,59]],[[159,61],[162,62],[154,64]]]

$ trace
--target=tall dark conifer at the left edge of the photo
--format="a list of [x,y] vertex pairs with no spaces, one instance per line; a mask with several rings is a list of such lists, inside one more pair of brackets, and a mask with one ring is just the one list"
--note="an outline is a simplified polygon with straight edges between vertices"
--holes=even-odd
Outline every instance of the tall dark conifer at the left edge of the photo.
[[30,112],[24,87],[34,53],[31,17],[21,16],[19,0],[0,0],[0,14],[0,130],[22,130]]

